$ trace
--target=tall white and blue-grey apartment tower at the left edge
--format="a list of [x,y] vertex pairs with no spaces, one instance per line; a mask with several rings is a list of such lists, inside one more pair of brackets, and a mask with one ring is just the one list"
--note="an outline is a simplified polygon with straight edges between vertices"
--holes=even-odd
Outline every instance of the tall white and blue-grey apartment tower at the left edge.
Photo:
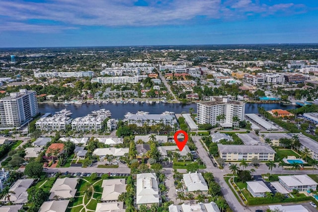
[[19,128],[39,113],[36,92],[20,89],[0,99],[0,129]]

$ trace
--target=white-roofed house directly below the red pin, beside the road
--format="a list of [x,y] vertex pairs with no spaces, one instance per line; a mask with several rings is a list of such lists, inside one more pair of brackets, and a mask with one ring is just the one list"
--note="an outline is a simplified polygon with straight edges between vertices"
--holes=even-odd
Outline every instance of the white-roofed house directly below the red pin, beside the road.
[[188,192],[207,192],[209,190],[208,185],[205,182],[202,174],[198,172],[189,172],[188,174],[183,174],[183,182]]

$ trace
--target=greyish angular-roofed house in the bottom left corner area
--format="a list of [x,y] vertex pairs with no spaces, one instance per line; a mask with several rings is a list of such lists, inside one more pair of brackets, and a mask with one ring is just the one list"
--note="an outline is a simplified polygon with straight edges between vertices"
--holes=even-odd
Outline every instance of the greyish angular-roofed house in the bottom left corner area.
[[[10,194],[10,201],[14,204],[24,204],[28,202],[28,192],[26,191],[33,183],[34,179],[17,180],[11,187],[10,191],[15,194]],[[5,197],[0,202],[9,202]]]

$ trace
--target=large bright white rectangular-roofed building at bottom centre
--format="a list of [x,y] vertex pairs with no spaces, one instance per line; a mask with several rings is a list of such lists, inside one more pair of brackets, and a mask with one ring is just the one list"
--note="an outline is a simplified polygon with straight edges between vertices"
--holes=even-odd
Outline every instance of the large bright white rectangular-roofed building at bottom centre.
[[155,173],[137,174],[136,204],[160,203],[158,181]]

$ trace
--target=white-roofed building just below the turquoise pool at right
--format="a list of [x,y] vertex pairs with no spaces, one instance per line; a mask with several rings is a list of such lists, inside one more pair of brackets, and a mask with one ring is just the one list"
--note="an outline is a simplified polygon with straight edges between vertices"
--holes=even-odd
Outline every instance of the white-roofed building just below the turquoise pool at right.
[[306,174],[278,176],[279,183],[289,192],[294,189],[299,192],[306,192],[311,189],[316,191],[318,183]]

